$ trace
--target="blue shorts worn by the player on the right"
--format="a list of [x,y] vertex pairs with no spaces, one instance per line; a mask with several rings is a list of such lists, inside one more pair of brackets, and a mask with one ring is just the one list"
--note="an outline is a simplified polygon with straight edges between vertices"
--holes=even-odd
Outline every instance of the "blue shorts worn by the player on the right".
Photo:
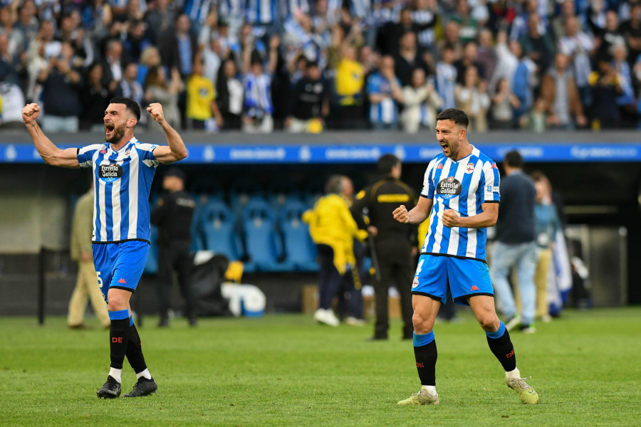
[[474,295],[494,296],[487,264],[447,255],[421,255],[412,282],[412,294],[468,305]]

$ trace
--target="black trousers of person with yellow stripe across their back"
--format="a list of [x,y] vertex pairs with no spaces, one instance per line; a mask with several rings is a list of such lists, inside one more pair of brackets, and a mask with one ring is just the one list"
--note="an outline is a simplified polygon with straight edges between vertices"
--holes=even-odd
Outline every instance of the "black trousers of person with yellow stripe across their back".
[[374,280],[376,324],[375,338],[387,338],[390,318],[387,306],[387,293],[395,287],[400,294],[401,315],[403,320],[402,337],[411,338],[412,325],[412,278],[414,268],[410,256],[410,243],[382,241],[375,243],[380,279]]

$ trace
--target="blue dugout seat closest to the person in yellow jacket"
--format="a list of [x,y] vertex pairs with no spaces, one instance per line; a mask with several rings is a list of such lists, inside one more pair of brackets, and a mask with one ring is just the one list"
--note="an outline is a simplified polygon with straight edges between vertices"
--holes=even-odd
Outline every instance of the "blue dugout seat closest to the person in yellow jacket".
[[316,246],[309,236],[309,228],[301,221],[308,206],[302,201],[288,201],[283,205],[279,216],[283,233],[285,258],[298,271],[317,271]]

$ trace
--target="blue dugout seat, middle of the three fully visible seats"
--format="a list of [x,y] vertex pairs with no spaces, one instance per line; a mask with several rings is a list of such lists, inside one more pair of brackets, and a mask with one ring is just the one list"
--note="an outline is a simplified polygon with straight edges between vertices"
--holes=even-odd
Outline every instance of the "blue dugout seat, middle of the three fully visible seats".
[[249,201],[241,218],[248,258],[245,271],[292,270],[293,265],[279,262],[283,250],[271,206],[266,201]]

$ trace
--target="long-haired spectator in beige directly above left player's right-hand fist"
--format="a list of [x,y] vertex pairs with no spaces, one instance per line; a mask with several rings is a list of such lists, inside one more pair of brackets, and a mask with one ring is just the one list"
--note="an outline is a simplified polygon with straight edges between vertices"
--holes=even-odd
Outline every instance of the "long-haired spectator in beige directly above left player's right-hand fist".
[[167,83],[165,67],[156,66],[149,69],[145,78],[145,104],[160,102],[165,112],[165,120],[172,127],[180,125],[180,111],[178,110],[178,93],[182,90],[182,80],[179,71],[172,69],[172,77]]

